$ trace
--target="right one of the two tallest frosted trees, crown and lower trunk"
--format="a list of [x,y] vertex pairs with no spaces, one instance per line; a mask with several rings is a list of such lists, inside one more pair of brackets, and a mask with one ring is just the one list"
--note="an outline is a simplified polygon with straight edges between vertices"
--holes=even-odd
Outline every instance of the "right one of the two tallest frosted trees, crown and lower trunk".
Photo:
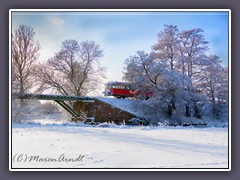
[[[179,59],[178,59],[178,71],[186,74],[191,78],[193,86],[199,79],[199,74],[202,71],[202,66],[207,63],[206,52],[208,51],[208,42],[205,40],[202,34],[203,30],[200,28],[184,30],[179,33],[179,44],[177,45]],[[191,109],[193,109],[194,116],[200,118],[201,106],[204,101],[200,101],[201,95],[195,91],[195,88],[188,90],[191,94],[189,104],[186,105],[186,115],[191,115]],[[192,107],[192,108],[191,108]]]

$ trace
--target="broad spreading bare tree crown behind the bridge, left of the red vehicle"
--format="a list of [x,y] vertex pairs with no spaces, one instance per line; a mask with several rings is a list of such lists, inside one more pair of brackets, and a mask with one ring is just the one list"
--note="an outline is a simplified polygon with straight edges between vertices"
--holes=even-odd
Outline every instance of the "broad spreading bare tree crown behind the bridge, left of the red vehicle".
[[105,68],[99,61],[102,56],[103,51],[94,41],[79,44],[76,40],[65,40],[54,57],[39,65],[36,72],[40,87],[64,95],[87,95],[105,78]]

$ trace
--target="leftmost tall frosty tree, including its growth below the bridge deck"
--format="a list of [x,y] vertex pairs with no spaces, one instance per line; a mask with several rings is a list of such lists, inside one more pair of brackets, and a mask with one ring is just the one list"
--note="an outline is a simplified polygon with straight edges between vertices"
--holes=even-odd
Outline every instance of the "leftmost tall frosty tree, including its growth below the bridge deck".
[[39,56],[40,45],[34,40],[33,28],[20,25],[12,34],[11,75],[12,75],[12,120],[20,121],[29,113],[29,102],[16,100],[15,96],[28,93],[36,85],[34,69]]

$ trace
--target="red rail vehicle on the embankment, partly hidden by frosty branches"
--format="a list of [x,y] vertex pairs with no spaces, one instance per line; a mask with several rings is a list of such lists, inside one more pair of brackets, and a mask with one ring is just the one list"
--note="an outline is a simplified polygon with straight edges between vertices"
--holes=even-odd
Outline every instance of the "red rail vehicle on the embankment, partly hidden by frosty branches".
[[[117,98],[128,98],[136,97],[141,95],[139,90],[133,89],[131,83],[125,82],[109,82],[106,84],[105,91],[103,92],[105,96],[114,96]],[[152,93],[146,93],[145,97],[149,97]]]

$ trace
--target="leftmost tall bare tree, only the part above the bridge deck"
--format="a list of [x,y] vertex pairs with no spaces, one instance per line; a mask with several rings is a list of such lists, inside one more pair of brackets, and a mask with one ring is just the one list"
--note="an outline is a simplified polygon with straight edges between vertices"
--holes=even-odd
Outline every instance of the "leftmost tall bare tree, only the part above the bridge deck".
[[12,35],[12,90],[26,93],[34,85],[34,64],[40,45],[34,40],[33,28],[20,25]]

